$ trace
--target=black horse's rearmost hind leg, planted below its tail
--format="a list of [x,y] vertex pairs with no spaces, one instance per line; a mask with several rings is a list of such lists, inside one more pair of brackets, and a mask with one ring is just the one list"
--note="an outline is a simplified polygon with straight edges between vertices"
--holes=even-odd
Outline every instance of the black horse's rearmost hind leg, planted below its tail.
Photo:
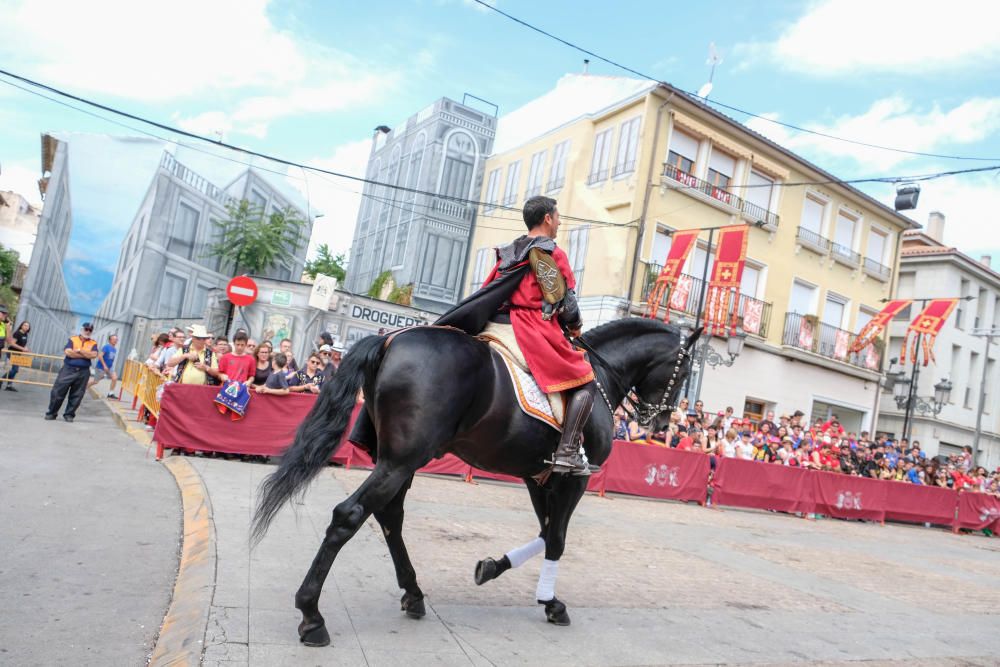
[[326,529],[323,544],[295,594],[295,607],[302,612],[299,639],[303,644],[326,646],[330,643],[330,634],[319,613],[319,596],[323,592],[323,583],[330,573],[330,567],[341,547],[354,537],[361,524],[373,512],[384,508],[412,476],[411,470],[380,461],[361,486],[334,508],[333,520]]

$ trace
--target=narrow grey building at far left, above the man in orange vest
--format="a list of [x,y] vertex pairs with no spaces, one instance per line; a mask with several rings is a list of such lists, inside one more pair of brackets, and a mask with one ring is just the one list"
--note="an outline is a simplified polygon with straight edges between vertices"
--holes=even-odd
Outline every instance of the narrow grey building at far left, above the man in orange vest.
[[63,258],[73,229],[69,187],[69,146],[50,135],[42,136],[44,197],[38,235],[21,291],[18,321],[31,322],[30,347],[41,354],[60,354],[75,333],[78,317],[72,312]]

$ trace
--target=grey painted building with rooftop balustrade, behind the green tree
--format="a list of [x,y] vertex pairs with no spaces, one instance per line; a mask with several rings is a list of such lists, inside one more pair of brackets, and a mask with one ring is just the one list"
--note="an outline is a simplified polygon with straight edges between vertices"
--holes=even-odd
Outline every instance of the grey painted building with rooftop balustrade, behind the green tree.
[[149,341],[133,336],[136,318],[201,317],[209,293],[232,278],[233,267],[210,247],[219,239],[219,222],[228,217],[226,205],[244,199],[265,215],[290,208],[306,220],[291,265],[268,274],[281,280],[301,276],[313,223],[304,211],[253,167],[220,188],[165,151],[122,241],[111,291],[95,318],[98,339],[117,333],[121,350],[143,353]]

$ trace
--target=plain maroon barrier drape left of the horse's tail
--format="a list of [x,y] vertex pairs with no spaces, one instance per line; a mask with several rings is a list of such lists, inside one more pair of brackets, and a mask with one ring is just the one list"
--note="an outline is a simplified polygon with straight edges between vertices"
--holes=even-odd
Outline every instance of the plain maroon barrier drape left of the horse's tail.
[[218,393],[218,387],[166,385],[153,439],[164,447],[278,456],[316,402],[313,394],[254,394],[246,416],[234,422],[216,409]]

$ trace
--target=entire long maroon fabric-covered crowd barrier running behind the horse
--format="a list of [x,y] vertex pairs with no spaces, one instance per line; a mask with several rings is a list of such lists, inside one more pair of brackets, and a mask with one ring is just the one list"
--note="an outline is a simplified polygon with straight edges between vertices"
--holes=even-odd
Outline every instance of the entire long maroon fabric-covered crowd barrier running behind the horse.
[[[135,381],[142,391],[143,380]],[[155,376],[153,376],[155,377]],[[168,384],[154,440],[157,457],[164,447],[227,454],[278,456],[295,436],[295,429],[312,408],[315,396],[254,395],[246,417],[232,421],[213,403],[218,387]],[[143,399],[145,400],[145,399]],[[350,424],[361,405],[355,406]],[[151,409],[152,411],[152,409]],[[347,441],[350,424],[333,462],[371,468],[368,453]],[[494,479],[521,482],[509,475],[479,470],[446,454],[419,472],[455,475],[468,481]],[[647,498],[704,504],[710,480],[710,457],[667,447],[616,440],[588,489],[600,494],[624,493]],[[822,514],[841,519],[935,524],[1000,533],[1000,499],[981,493],[854,477],[744,461],[719,459],[711,481],[712,503],[780,512]]]

